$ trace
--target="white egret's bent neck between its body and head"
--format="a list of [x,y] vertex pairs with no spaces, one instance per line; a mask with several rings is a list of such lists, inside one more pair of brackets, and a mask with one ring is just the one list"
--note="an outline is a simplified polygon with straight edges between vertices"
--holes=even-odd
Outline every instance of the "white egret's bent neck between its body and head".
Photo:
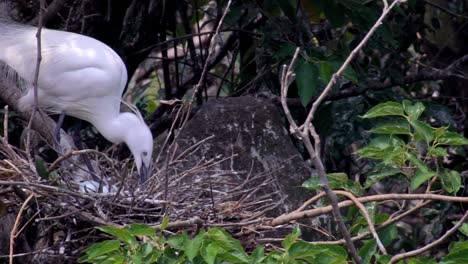
[[129,125],[126,124],[122,114],[114,118],[93,120],[92,123],[99,133],[112,143],[124,142],[129,130]]

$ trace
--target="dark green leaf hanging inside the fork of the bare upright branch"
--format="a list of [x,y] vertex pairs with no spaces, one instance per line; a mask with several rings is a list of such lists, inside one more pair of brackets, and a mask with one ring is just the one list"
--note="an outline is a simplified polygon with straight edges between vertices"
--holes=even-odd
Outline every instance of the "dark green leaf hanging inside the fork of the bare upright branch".
[[303,59],[298,61],[296,66],[296,84],[299,98],[304,106],[317,94],[318,75],[316,65]]

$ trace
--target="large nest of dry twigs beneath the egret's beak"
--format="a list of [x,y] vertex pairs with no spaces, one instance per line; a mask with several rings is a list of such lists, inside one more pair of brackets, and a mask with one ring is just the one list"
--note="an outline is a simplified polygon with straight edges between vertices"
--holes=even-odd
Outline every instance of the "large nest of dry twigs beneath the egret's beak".
[[[232,157],[201,159],[187,168],[202,144],[183,151],[176,143],[165,144],[151,178],[139,185],[133,162],[117,161],[112,149],[75,150],[46,164],[0,138],[2,255],[13,242],[16,256],[28,260],[74,261],[104,237],[96,226],[146,223],[157,228],[165,216],[171,221],[167,232],[222,226],[255,246],[253,238],[271,230],[262,228],[267,213],[283,201],[276,192],[265,193],[272,177],[217,167]],[[95,172],[87,169],[84,157]],[[89,182],[97,183],[94,189]],[[15,228],[18,235],[6,241]]]

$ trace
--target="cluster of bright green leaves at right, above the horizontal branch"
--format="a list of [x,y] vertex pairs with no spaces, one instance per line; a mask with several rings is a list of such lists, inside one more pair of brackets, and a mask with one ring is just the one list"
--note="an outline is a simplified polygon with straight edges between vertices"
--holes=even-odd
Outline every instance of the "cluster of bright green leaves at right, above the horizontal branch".
[[358,150],[361,157],[379,160],[377,169],[368,175],[365,187],[396,174],[409,179],[411,189],[436,179],[448,193],[462,187],[457,171],[443,168],[441,159],[448,156],[443,146],[468,144],[468,139],[448,131],[447,127],[432,127],[420,120],[425,107],[418,102],[386,102],[371,108],[362,118],[392,118],[379,123],[369,132],[377,136],[369,146]]

